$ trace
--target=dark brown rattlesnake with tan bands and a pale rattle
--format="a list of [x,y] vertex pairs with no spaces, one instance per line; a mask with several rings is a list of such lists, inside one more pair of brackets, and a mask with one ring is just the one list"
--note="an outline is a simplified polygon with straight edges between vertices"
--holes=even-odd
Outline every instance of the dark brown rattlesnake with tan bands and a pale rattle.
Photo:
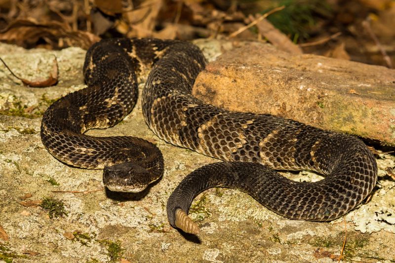
[[[264,58],[262,58],[264,59]],[[163,156],[146,140],[93,137],[89,129],[117,124],[136,104],[138,82],[149,128],[162,140],[222,161],[187,175],[167,200],[169,224],[198,234],[189,216],[195,196],[207,188],[244,191],[289,219],[331,221],[360,204],[377,183],[377,164],[358,138],[270,114],[228,111],[192,95],[206,65],[193,43],[155,38],[112,38],[87,51],[87,87],[50,105],[41,122],[41,140],[60,161],[103,169],[112,191],[138,192],[161,178]],[[297,182],[276,170],[311,170],[317,182]]]

